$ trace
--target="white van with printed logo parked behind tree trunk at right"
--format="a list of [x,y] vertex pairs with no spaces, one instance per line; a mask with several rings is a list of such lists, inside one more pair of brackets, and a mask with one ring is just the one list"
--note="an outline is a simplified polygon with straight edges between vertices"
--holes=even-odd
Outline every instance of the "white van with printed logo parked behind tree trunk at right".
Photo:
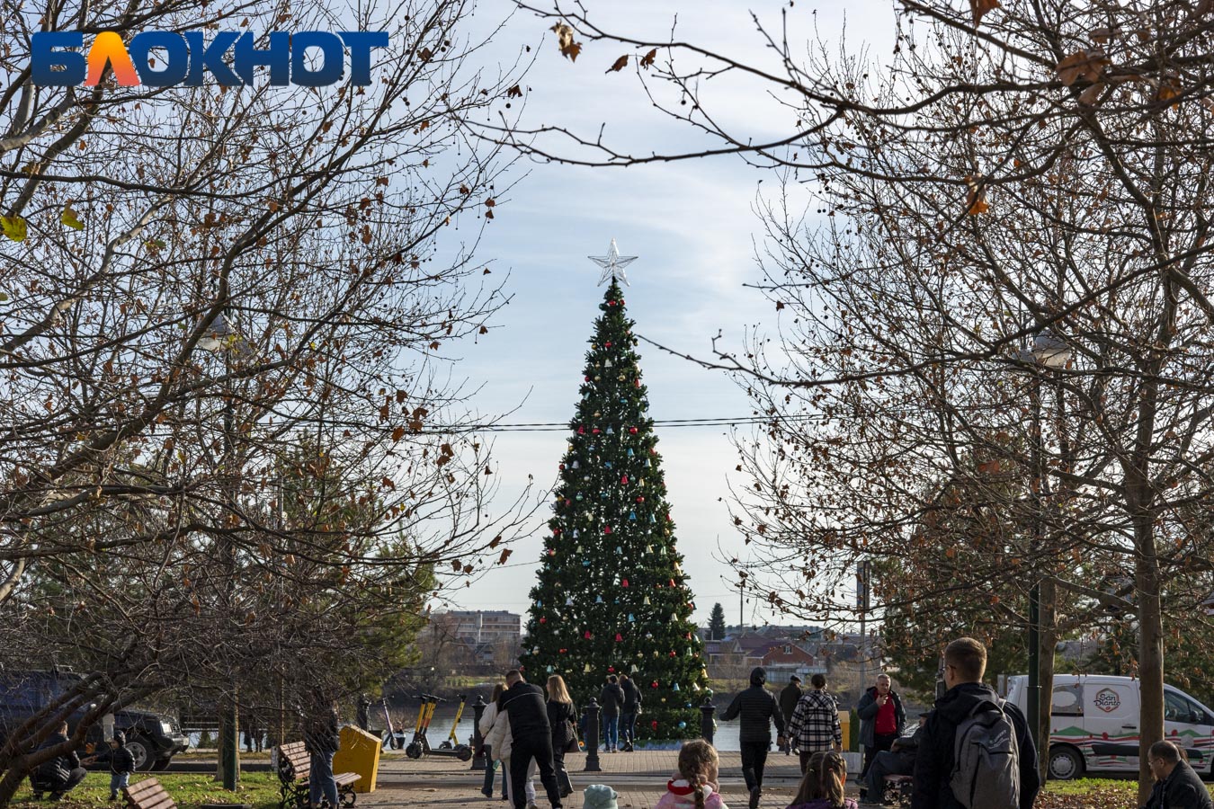
[[[1008,678],[1008,701],[1027,712],[1028,677]],[[1050,777],[1138,773],[1139,680],[1106,674],[1055,674]],[[1184,747],[1198,774],[1214,774],[1214,711],[1180,689],[1163,686],[1163,734]]]

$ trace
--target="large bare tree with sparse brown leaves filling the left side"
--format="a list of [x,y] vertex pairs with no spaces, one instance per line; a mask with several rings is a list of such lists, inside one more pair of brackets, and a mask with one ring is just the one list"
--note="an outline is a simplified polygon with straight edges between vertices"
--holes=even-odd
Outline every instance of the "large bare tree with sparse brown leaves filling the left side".
[[[466,125],[518,70],[472,63],[472,2],[4,11],[2,662],[89,676],[7,736],[0,804],[83,706],[187,676],[227,700],[277,678],[279,705],[353,686],[521,518],[489,513],[447,352],[505,303],[473,249],[509,160]],[[40,29],[337,22],[391,34],[370,85],[29,79]]]

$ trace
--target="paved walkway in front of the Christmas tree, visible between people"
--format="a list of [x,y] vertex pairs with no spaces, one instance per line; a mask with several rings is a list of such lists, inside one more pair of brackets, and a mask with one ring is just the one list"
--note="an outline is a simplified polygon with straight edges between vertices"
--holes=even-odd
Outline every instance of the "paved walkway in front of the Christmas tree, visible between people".
[[[619,793],[620,809],[652,809],[665,792],[677,756],[677,751],[673,750],[601,754],[600,773],[584,771],[584,753],[567,756],[566,765],[574,793],[565,801],[565,807],[580,808],[583,788],[591,784],[606,784]],[[499,797],[490,799],[481,794],[484,773],[469,768],[470,764],[452,758],[412,760],[401,754],[387,754],[380,759],[379,787],[369,794],[359,794],[358,807],[506,807]],[[764,775],[764,809],[787,807],[796,793],[800,775],[795,756],[770,754]],[[500,796],[500,781],[495,786],[497,796]],[[742,780],[739,753],[721,753],[720,786],[731,809],[744,809],[748,793]],[[849,792],[855,792],[855,787],[849,785]],[[538,798],[540,809],[546,809],[543,788],[539,788]]]

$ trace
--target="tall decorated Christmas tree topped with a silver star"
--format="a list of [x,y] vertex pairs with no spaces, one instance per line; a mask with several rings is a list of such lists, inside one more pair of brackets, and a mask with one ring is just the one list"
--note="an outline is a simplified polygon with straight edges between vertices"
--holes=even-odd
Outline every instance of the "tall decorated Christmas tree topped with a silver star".
[[522,661],[535,682],[563,676],[579,706],[608,674],[629,674],[645,700],[637,735],[683,739],[698,735],[708,672],[614,240],[596,261],[612,281],[586,353]]

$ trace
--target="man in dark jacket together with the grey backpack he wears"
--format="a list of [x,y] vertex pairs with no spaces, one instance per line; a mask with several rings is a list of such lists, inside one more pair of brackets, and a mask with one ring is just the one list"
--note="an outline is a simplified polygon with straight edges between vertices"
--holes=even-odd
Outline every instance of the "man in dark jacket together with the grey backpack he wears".
[[1037,748],[1020,710],[982,683],[986,646],[944,648],[944,684],[915,756],[910,809],[1031,809],[1040,788]]

